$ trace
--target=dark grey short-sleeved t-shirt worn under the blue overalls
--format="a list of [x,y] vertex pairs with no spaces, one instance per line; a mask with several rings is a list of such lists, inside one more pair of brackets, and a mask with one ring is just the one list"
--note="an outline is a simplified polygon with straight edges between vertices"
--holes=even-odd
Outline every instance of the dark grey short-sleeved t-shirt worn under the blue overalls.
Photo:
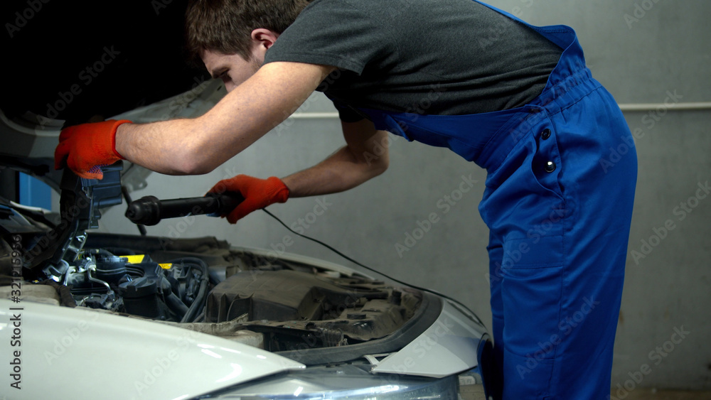
[[339,70],[318,90],[344,107],[416,114],[478,114],[540,94],[562,49],[472,0],[315,0],[265,63]]

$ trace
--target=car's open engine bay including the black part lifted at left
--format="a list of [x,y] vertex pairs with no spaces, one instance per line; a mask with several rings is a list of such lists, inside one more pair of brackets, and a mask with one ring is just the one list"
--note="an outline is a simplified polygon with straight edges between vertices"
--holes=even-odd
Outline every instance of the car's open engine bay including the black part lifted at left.
[[[240,249],[213,237],[90,232],[99,208],[121,202],[120,166],[102,169],[103,180],[65,173],[59,215],[3,201],[0,244],[10,249],[20,238],[22,286],[43,286],[32,291],[35,300],[296,352],[302,361],[304,350],[373,344],[373,354],[395,351],[404,339],[390,340],[393,333],[412,325],[424,329],[432,320],[429,315],[417,323],[432,303],[425,293],[354,271]],[[0,271],[8,277],[16,275],[9,254],[0,256]],[[9,297],[9,283],[1,285],[0,296]],[[422,329],[409,329],[407,337]],[[318,353],[310,360],[342,361],[356,353]]]

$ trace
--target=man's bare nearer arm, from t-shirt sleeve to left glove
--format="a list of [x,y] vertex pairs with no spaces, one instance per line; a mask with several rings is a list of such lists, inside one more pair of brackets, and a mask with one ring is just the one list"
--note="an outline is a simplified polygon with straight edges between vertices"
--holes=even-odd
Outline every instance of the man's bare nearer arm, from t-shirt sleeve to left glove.
[[120,125],[116,150],[160,173],[208,173],[286,119],[332,70],[302,63],[264,65],[202,117]]

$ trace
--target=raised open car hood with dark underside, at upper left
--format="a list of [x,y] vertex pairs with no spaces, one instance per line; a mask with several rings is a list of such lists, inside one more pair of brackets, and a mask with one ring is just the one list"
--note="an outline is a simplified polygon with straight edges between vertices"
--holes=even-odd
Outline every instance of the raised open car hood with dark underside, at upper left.
[[[58,189],[53,155],[63,126],[103,119],[134,122],[191,118],[224,94],[184,50],[187,0],[112,4],[3,1],[8,16],[0,96],[0,167]],[[129,22],[127,22],[129,21]],[[149,171],[124,167],[124,185],[141,188]]]

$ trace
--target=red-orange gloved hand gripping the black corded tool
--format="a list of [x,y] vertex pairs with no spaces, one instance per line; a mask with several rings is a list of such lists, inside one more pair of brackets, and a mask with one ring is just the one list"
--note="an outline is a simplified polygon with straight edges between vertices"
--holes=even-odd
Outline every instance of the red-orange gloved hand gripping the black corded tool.
[[225,192],[241,193],[245,198],[245,201],[227,215],[230,224],[237,223],[252,211],[260,210],[275,202],[286,202],[289,198],[289,188],[276,176],[260,179],[248,175],[237,175],[234,178],[220,180],[208,193]]

